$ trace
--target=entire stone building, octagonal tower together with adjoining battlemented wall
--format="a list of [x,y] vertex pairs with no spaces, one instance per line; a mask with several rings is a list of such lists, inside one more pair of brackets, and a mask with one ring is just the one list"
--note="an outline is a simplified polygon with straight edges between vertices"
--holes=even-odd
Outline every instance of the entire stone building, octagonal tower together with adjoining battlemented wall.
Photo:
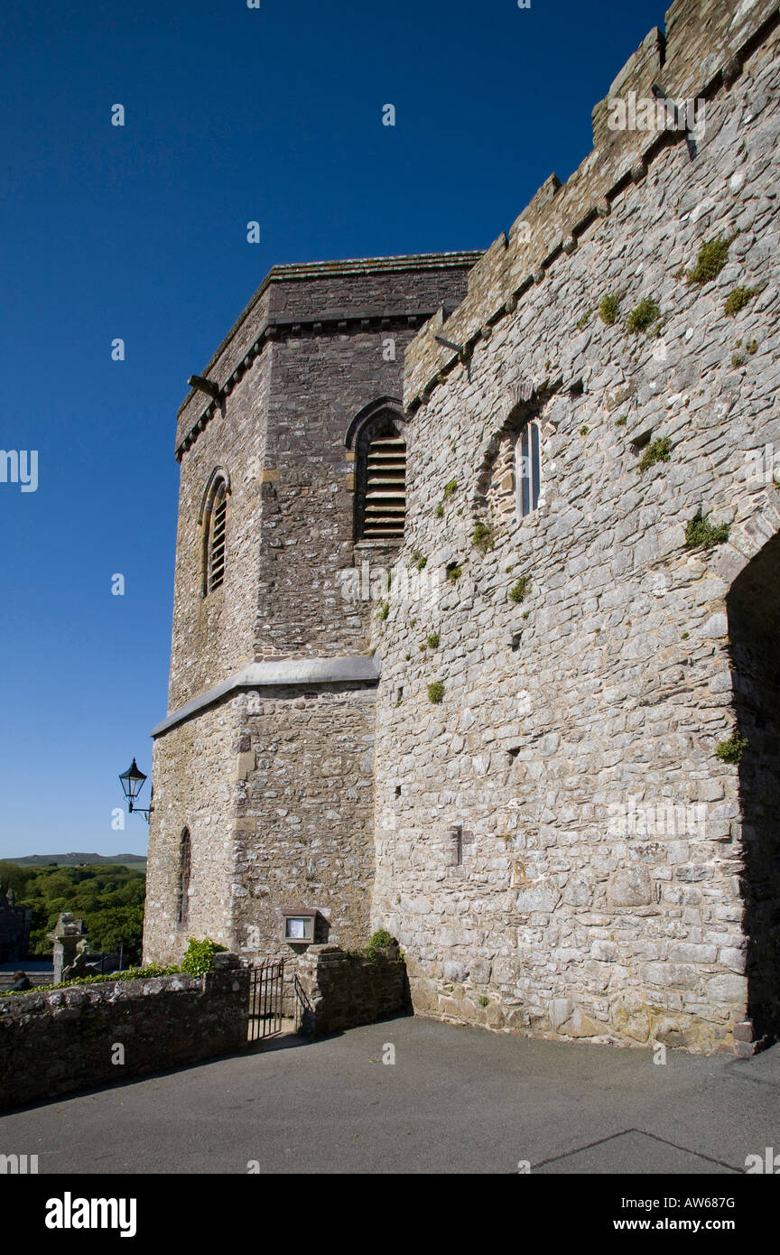
[[148,958],[314,910],[423,1014],[777,1034],[779,25],[677,0],[478,260],[271,272],[179,415]]

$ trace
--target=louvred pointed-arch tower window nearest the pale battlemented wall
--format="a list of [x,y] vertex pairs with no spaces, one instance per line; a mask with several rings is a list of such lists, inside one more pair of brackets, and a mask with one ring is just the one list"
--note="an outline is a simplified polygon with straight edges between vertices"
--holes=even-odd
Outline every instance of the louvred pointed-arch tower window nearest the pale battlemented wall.
[[[365,414],[365,412],[364,412]],[[406,423],[395,407],[371,407],[355,442],[355,540],[403,540]]]

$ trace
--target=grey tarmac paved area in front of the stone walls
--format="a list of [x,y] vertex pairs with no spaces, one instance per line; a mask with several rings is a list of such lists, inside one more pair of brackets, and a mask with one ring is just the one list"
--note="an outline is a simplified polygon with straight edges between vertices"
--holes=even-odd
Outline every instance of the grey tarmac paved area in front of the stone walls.
[[[395,1064],[382,1064],[385,1043]],[[0,1118],[46,1172],[730,1173],[780,1153],[780,1047],[749,1060],[404,1018]]]

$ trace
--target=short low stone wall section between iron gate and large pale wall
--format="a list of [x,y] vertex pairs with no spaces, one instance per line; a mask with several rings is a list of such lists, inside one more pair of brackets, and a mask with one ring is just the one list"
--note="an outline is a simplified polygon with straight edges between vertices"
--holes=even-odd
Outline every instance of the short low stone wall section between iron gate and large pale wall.
[[411,1009],[406,965],[395,948],[364,959],[335,945],[312,945],[295,976],[301,1033],[322,1037]]

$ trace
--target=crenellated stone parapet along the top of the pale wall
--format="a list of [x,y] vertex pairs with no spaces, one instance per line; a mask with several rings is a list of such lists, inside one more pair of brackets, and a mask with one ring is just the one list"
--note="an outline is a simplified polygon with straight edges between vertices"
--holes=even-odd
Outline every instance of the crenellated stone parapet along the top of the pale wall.
[[[712,99],[739,78],[745,59],[780,24],[777,0],[677,0],[666,14],[666,33],[655,28],[593,108],[593,149],[566,183],[553,173],[529,205],[469,274],[468,294],[446,318],[440,309],[406,350],[404,404],[414,413],[461,359],[523,295],[544,282],[549,267],[573,252],[579,240],[632,183],[641,183],[653,158],[685,143],[685,131],[611,129],[611,102],[655,99],[661,88],[677,105]],[[446,339],[461,354],[441,345]]]

